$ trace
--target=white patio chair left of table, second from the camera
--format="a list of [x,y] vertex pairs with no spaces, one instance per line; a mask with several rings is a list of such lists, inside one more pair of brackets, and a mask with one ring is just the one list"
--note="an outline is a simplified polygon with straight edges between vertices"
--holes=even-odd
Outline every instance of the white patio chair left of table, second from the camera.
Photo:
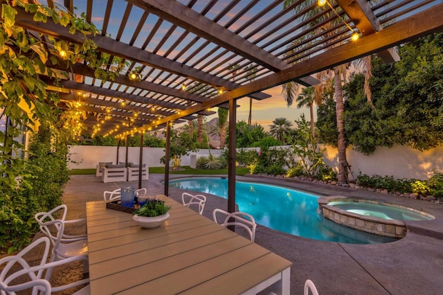
[[[83,259],[83,273],[89,272],[88,265],[88,242],[84,236],[81,235],[65,235],[64,234],[64,220],[54,220],[53,215],[46,212],[35,214],[40,231],[46,235],[53,245],[53,251],[50,262],[62,260],[64,258],[71,258],[74,256],[81,256]],[[52,269],[49,269],[46,274],[46,279],[51,278]]]

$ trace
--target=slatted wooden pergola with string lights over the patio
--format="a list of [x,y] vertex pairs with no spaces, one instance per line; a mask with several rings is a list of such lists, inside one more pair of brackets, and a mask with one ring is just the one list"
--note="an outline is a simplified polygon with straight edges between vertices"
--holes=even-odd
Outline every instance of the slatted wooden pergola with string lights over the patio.
[[[85,12],[100,30],[91,39],[98,51],[111,55],[104,66],[109,68],[115,57],[128,66],[109,82],[95,78],[79,61],[69,80],[62,80],[66,91],[60,98],[81,101],[85,133],[109,136],[167,127],[168,139],[170,123],[213,114],[211,107],[228,108],[229,204],[234,208],[238,98],[263,100],[269,95],[262,91],[290,81],[316,84],[312,74],[372,53],[395,62],[394,46],[443,28],[441,1],[336,0],[321,8],[316,1],[295,0],[287,7],[284,2],[111,0],[100,7],[93,0],[64,0],[67,10],[77,7],[75,13]],[[53,0],[47,3],[54,6]],[[33,21],[24,10],[15,19],[46,43],[48,36],[84,42],[82,35],[71,35],[51,20]],[[360,35],[355,42],[353,33]],[[166,159],[168,147],[167,140]]]

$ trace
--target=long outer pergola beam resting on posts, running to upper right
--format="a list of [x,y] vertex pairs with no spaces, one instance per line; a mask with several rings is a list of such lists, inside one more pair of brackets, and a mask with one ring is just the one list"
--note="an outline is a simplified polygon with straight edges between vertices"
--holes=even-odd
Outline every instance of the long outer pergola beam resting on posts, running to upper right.
[[[316,55],[315,59],[301,61],[298,64],[291,66],[289,69],[268,75],[264,78],[260,78],[239,87],[238,89],[223,93],[213,100],[204,102],[197,107],[192,107],[186,111],[183,111],[183,114],[163,118],[161,123],[174,121],[181,118],[181,116],[194,114],[201,109],[212,107],[213,105],[218,105],[236,98],[242,98],[244,96],[248,96],[249,93],[269,89],[279,84],[289,82],[294,78],[304,77],[317,73],[318,71],[330,69],[334,66],[338,66],[339,64],[344,64],[346,62],[356,60],[357,58],[383,51],[386,48],[390,48],[392,46],[396,46],[431,33],[439,32],[443,30],[442,15],[443,3],[433,6],[432,8],[428,8],[427,10],[423,10],[422,12],[418,12],[416,15],[392,24],[379,32],[363,37],[356,43],[347,43],[336,48],[332,48],[324,53]],[[146,127],[150,127],[150,125],[145,125],[141,127],[141,129]]]

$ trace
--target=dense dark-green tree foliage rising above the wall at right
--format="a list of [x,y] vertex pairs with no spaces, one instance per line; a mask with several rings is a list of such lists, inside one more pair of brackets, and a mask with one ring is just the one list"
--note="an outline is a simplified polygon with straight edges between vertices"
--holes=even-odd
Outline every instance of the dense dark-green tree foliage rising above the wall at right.
[[[401,60],[383,64],[372,57],[372,102],[363,93],[364,73],[345,85],[347,144],[363,154],[377,146],[409,145],[428,150],[443,143],[443,34],[436,33],[399,47]],[[332,105],[318,108],[323,143],[335,145]]]

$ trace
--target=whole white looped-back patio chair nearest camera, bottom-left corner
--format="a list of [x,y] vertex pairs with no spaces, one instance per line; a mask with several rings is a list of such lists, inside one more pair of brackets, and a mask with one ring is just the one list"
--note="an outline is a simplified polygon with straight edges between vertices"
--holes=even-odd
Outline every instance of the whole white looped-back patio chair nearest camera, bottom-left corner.
[[[24,256],[35,247],[39,247],[40,244],[42,244],[43,249],[42,259],[38,265],[31,267],[24,259]],[[4,267],[0,271],[0,294],[15,294],[17,291],[21,291],[21,293],[23,293],[26,290],[28,291],[26,294],[29,294],[30,292],[30,294],[33,295],[49,295],[52,292],[60,292],[72,287],[89,283],[89,278],[85,278],[66,285],[52,287],[48,279],[42,278],[45,271],[47,273],[54,267],[59,267],[60,265],[81,259],[80,256],[76,256],[67,258],[65,260],[46,263],[50,245],[51,242],[47,237],[39,238],[38,240],[35,240],[29,244],[28,247],[20,251],[17,255],[1,258],[0,269],[3,267],[3,265]],[[16,280],[17,278],[20,278],[20,280]],[[86,295],[89,293],[89,285],[87,285],[74,294]]]

